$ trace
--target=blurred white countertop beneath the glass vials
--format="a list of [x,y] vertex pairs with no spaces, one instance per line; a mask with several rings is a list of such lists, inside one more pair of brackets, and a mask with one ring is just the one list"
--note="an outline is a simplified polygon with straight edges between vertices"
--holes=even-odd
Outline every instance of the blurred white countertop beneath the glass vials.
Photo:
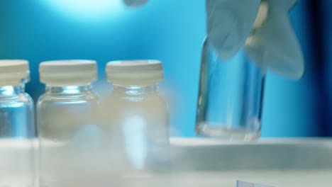
[[[35,142],[33,141],[33,144]],[[29,172],[30,142],[0,141],[0,176]],[[332,186],[331,139],[262,139],[228,143],[214,139],[172,138],[172,172],[155,180],[170,186],[236,186],[236,180],[271,186]],[[10,176],[8,176],[11,178]]]

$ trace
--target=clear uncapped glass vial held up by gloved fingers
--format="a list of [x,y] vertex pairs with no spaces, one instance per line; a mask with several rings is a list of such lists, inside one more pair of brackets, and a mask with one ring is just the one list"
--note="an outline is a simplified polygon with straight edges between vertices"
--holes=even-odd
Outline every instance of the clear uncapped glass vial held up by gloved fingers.
[[202,49],[196,132],[231,141],[260,137],[266,60],[260,29],[268,6],[260,11],[243,49],[223,60],[206,37]]

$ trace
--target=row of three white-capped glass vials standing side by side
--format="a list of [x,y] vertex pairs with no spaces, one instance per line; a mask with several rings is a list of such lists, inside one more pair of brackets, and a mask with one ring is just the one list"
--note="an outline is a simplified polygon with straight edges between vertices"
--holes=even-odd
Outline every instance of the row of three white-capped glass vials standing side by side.
[[[97,79],[92,60],[42,62],[39,73],[46,89],[38,98],[35,130],[33,101],[24,91],[28,62],[0,60],[0,141],[38,132],[40,186],[109,186],[119,174],[167,165],[167,104],[158,94],[161,62],[109,62],[113,91],[103,102],[92,90]],[[16,182],[0,179],[0,186]]]

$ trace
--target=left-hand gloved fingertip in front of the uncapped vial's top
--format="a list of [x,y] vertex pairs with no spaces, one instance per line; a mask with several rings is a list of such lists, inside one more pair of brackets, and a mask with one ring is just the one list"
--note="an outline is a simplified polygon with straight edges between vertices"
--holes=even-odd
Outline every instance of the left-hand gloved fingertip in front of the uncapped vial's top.
[[223,60],[245,45],[260,7],[260,0],[206,0],[207,34]]

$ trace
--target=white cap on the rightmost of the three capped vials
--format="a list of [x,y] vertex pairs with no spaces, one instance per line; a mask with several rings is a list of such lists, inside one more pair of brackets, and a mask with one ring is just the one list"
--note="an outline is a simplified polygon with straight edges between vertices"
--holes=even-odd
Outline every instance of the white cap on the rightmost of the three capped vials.
[[150,85],[164,79],[158,60],[121,60],[106,64],[107,80],[120,85]]

